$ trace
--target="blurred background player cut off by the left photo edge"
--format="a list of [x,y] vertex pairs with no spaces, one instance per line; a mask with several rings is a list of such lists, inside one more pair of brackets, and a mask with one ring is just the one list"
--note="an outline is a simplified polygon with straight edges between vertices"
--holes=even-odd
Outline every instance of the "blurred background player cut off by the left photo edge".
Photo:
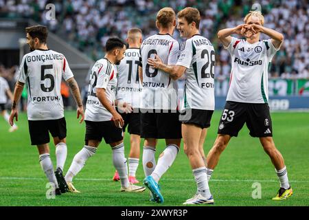
[[[0,113],[5,119],[5,121],[9,122],[10,115],[8,114],[8,111],[5,109],[5,104],[8,101],[7,96],[12,100],[13,102],[13,94],[10,90],[10,87],[8,85],[8,82],[5,80],[5,78],[0,76]],[[13,132],[16,131],[19,127],[16,124],[13,124],[13,126],[10,127],[9,131]]]

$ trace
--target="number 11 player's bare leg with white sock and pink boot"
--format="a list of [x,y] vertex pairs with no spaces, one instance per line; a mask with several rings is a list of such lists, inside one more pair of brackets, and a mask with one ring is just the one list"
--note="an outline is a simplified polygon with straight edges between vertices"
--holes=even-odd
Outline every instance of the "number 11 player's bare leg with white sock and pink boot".
[[139,166],[140,144],[141,144],[141,137],[139,135],[131,134],[128,167],[129,167],[129,181],[132,184],[139,183],[139,181],[135,177],[135,174],[137,167]]

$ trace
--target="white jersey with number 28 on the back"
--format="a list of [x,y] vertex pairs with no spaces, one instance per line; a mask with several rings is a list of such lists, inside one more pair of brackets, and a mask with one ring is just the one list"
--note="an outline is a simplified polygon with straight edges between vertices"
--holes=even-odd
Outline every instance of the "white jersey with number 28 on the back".
[[214,110],[215,52],[210,41],[200,34],[187,39],[176,65],[187,68],[181,111]]

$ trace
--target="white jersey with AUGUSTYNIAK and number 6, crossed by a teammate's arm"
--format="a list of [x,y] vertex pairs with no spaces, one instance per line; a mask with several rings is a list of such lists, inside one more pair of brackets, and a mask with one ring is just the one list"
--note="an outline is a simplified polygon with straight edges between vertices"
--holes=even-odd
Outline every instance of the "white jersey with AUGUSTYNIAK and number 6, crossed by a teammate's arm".
[[143,90],[141,109],[176,109],[177,91],[174,80],[160,69],[147,64],[148,58],[157,54],[163,63],[175,65],[180,54],[180,43],[170,34],[155,34],[141,44],[141,65],[143,67]]

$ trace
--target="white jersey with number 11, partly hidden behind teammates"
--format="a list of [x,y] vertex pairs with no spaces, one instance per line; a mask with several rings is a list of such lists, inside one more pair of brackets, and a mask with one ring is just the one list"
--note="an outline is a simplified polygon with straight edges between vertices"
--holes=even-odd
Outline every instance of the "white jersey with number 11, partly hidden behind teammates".
[[116,99],[129,102],[133,108],[139,108],[141,83],[139,82],[139,48],[128,48],[125,57],[117,65],[118,82]]

